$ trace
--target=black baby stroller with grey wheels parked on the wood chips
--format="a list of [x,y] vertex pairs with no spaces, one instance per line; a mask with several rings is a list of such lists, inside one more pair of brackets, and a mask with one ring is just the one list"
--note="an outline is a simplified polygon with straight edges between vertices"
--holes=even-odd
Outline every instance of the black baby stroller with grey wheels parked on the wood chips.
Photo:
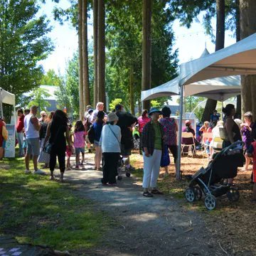
[[235,142],[213,156],[206,169],[203,167],[190,176],[190,183],[185,191],[188,202],[200,200],[204,194],[204,203],[208,210],[216,207],[216,198],[227,195],[230,201],[238,201],[238,188],[221,184],[223,178],[234,178],[238,167],[242,167],[245,157],[242,154],[242,142]]

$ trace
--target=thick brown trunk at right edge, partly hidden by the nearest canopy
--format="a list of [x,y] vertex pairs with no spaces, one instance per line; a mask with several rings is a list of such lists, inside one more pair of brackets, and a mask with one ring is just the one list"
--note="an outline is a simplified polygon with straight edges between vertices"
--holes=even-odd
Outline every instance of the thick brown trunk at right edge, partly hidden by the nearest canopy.
[[[256,32],[256,1],[240,0],[240,39]],[[255,85],[256,75],[242,75],[242,114],[252,111],[256,117]]]

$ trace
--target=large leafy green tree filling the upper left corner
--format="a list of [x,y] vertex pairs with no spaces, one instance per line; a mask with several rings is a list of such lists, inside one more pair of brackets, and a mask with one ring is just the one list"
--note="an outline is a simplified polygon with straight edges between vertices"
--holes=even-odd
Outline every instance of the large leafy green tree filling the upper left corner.
[[46,16],[38,16],[36,0],[0,0],[0,85],[20,100],[40,84],[39,60],[53,50]]

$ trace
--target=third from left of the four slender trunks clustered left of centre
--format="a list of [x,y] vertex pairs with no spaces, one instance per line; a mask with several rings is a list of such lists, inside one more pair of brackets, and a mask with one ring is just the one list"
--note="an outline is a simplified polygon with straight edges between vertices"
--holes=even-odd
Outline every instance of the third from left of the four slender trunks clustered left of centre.
[[93,0],[93,62],[94,62],[94,95],[93,95],[93,104],[96,107],[97,102],[99,101],[99,94],[97,90],[97,16],[98,16],[98,0]]

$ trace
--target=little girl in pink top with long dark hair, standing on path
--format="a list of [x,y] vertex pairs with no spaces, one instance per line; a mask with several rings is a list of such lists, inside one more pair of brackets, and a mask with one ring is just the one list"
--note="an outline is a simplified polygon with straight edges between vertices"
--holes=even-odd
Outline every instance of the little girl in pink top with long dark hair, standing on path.
[[[75,123],[74,133],[74,147],[75,147],[75,168],[79,169],[79,165],[83,165],[85,161],[85,127],[81,120]],[[82,161],[80,163],[80,152],[82,153]]]

